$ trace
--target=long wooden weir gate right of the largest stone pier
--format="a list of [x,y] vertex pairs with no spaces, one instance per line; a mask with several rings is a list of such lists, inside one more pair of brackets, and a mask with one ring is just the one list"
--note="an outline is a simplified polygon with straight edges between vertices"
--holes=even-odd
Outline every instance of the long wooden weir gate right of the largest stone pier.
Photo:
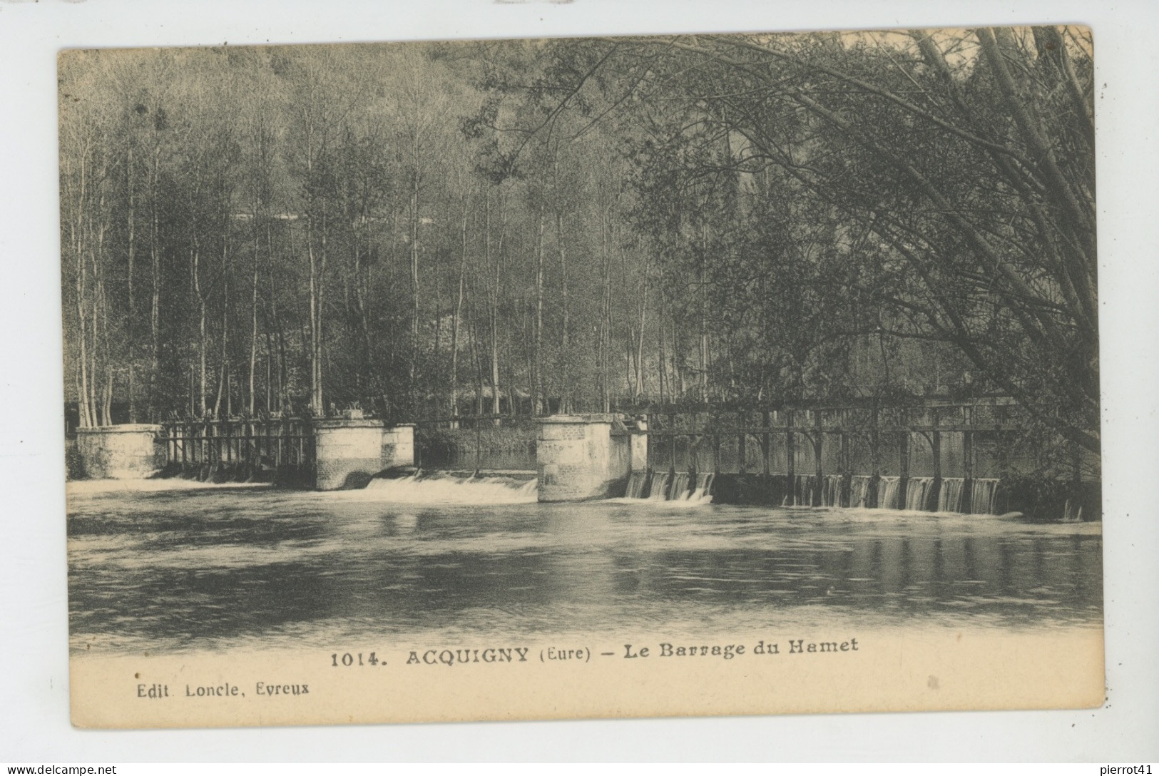
[[687,488],[694,497],[707,475],[727,503],[1101,513],[1098,456],[1028,433],[1034,424],[1007,397],[650,405],[637,417],[648,473],[632,474],[629,496],[673,498]]

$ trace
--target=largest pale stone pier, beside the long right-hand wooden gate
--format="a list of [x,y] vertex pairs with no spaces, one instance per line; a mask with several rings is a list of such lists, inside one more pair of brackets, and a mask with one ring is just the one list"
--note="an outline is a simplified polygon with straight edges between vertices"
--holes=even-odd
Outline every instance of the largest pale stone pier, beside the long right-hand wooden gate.
[[540,502],[622,496],[633,459],[632,437],[613,432],[611,415],[553,415],[540,420],[535,456]]

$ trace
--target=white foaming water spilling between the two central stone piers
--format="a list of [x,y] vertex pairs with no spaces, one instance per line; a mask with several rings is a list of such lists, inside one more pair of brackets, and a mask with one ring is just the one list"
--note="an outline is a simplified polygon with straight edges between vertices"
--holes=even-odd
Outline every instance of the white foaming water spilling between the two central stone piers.
[[538,489],[535,479],[410,475],[376,478],[363,490],[340,492],[364,500],[406,504],[532,504],[539,500]]

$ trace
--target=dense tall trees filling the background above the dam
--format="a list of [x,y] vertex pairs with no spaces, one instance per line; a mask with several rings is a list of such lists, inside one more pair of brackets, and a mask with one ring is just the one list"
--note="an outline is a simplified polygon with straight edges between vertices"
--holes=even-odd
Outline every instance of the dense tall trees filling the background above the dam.
[[72,52],[82,424],[999,391],[1098,449],[1085,30]]

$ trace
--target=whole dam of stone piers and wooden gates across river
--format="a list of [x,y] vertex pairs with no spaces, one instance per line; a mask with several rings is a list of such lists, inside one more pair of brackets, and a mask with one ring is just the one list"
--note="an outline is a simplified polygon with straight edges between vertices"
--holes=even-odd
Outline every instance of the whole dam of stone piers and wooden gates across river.
[[[1100,483],[1035,466],[1011,440],[1018,405],[992,397],[911,405],[819,402],[647,412],[487,416],[387,424],[330,418],[183,420],[78,430],[90,477],[178,476],[315,490],[516,483],[520,498],[605,498],[1098,519]],[[488,442],[502,429],[502,449]],[[435,440],[437,437],[438,444]],[[512,441],[515,440],[515,441]],[[469,442],[464,452],[464,442]],[[442,473],[442,474],[440,474]],[[534,481],[534,485],[529,483]],[[404,490],[401,482],[391,485]],[[460,488],[460,490],[462,490]],[[480,491],[481,493],[481,491]]]

